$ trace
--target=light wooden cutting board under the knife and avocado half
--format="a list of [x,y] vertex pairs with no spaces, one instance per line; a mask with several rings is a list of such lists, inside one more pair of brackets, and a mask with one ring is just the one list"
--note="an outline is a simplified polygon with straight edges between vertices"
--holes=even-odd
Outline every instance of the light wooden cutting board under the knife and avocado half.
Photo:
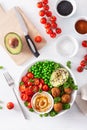
[[[18,11],[23,16],[25,23],[28,27],[29,35],[34,41],[34,37],[37,35],[40,35],[37,28],[32,24],[32,22],[26,17],[25,13],[18,8]],[[20,35],[22,42],[23,42],[23,49],[20,54],[12,55],[10,54],[4,45],[4,37],[9,32],[15,32]],[[46,45],[46,40],[43,38],[41,43],[36,43],[34,41],[36,47],[38,50],[40,50],[42,47]],[[29,58],[33,56],[31,53],[26,41],[25,37],[23,35],[23,31],[21,30],[20,23],[18,21],[18,18],[15,14],[14,8],[10,9],[9,11],[5,12],[3,7],[0,5],[0,45],[4,47],[5,51],[8,53],[8,55],[14,60],[14,62],[18,65],[23,64],[26,62]]]

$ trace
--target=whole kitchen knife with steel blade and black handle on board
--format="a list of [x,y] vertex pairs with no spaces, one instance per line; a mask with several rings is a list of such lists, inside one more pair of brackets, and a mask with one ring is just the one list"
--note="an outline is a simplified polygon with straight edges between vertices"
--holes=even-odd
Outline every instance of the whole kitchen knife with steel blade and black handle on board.
[[25,39],[26,39],[26,42],[31,50],[31,52],[34,54],[35,57],[38,57],[40,54],[33,42],[33,40],[30,38],[29,34],[28,34],[28,29],[27,29],[27,26],[25,24],[25,21],[22,17],[22,15],[19,13],[19,11],[17,10],[16,7],[14,7],[15,9],[15,13],[16,13],[16,16],[18,18],[18,21],[20,23],[20,26],[21,26],[21,29],[23,30],[23,33],[24,33],[24,36],[25,36]]

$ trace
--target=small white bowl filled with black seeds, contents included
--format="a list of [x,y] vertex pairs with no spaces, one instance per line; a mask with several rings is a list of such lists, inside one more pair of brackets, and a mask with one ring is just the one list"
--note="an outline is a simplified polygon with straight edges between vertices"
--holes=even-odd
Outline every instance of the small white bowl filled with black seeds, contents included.
[[76,12],[76,2],[74,0],[58,0],[56,12],[61,18],[69,18]]

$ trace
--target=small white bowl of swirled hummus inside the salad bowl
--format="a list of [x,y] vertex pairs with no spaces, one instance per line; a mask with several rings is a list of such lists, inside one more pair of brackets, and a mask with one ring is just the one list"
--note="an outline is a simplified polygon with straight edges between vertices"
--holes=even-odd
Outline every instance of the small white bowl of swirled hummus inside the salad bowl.
[[[36,100],[38,100],[37,98],[39,99],[39,108],[41,110],[37,110],[35,108]],[[47,100],[45,100],[46,98],[47,98]],[[47,103],[49,106],[47,106]],[[32,108],[34,109],[34,111],[36,113],[44,114],[44,113],[49,113],[52,110],[53,105],[54,105],[54,100],[53,100],[53,97],[51,96],[51,94],[49,94],[48,92],[45,92],[45,91],[43,91],[41,93],[37,92],[33,95],[32,99],[31,99],[31,104],[32,104]],[[40,106],[40,105],[42,105],[42,106]]]

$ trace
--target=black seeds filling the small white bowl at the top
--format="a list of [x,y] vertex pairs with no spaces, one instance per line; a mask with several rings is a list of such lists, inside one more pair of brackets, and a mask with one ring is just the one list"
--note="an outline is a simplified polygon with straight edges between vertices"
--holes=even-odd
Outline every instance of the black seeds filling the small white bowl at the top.
[[68,16],[73,11],[73,6],[69,1],[61,1],[57,5],[57,11],[60,15]]

